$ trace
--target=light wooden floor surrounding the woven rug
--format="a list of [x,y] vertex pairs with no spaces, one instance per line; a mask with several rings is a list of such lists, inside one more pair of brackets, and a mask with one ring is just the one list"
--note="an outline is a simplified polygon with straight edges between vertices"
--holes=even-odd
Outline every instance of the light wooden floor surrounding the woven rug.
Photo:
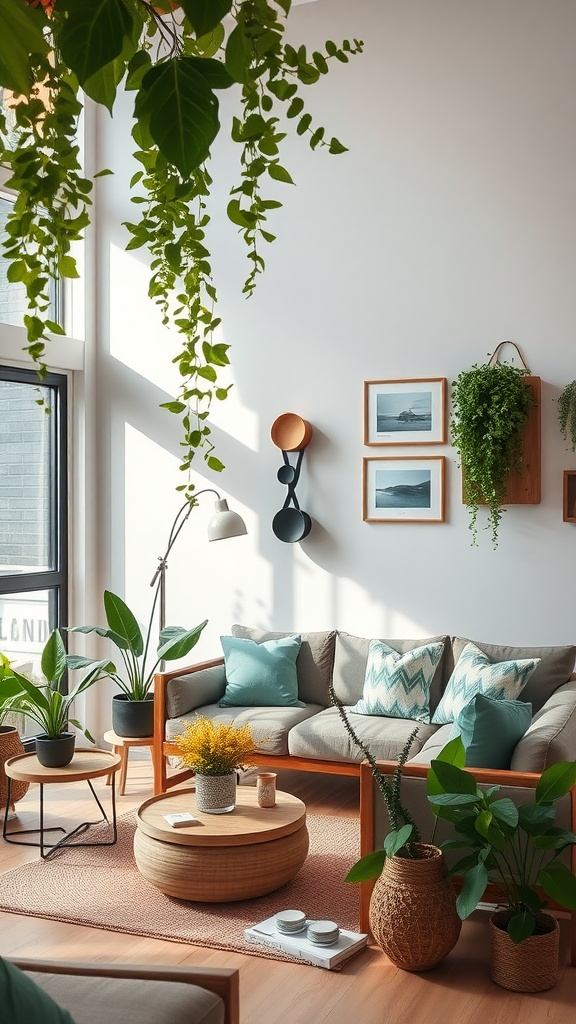
[[[279,772],[278,783],[316,813],[357,814],[356,779]],[[97,780],[95,785],[104,783]],[[85,782],[61,786],[57,795],[52,791],[55,786],[46,787],[47,806],[60,815],[65,826],[72,827],[93,813]],[[150,762],[131,760],[126,793],[118,798],[119,812],[138,806],[151,794]],[[38,791],[31,787],[17,805],[23,827],[35,826],[37,808]],[[35,848],[0,842],[0,872],[37,857]],[[373,946],[340,972],[329,972],[12,913],[0,913],[0,953],[238,967],[241,1024],[447,1024],[449,1020],[458,1024],[574,1024],[576,969],[563,967],[558,986],[549,992],[506,992],[489,978],[487,921],[486,913],[477,912],[464,923],[458,944],[444,963],[420,975],[399,971]],[[563,965],[567,955],[563,933]]]

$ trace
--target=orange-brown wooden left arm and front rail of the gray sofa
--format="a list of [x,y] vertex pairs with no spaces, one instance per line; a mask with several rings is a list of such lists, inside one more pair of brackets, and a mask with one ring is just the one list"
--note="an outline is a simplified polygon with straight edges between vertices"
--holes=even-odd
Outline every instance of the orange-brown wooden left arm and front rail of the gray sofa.
[[[201,669],[212,669],[216,665],[223,665],[223,658],[217,657],[211,662],[203,662],[195,665],[194,671]],[[152,750],[152,761],[154,767],[154,795],[160,796],[167,790],[187,778],[192,778],[194,772],[190,769],[174,772],[168,775],[166,770],[166,758],[177,757],[178,748],[174,742],[165,738],[166,729],[166,688],[171,679],[191,672],[191,669],[174,669],[171,672],[158,673],[154,681],[154,742]],[[258,754],[258,766],[262,768],[291,768],[299,771],[324,772],[327,775],[351,775],[360,777],[360,763],[352,761],[320,761],[314,758],[297,758],[291,754]]]

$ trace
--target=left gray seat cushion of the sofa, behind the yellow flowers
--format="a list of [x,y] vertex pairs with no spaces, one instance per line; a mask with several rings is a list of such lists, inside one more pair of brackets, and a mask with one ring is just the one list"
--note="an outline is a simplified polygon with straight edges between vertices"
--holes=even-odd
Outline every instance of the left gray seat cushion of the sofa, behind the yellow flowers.
[[305,708],[219,708],[205,705],[196,713],[180,715],[166,722],[166,739],[173,739],[183,729],[187,722],[194,721],[195,714],[205,715],[215,722],[234,722],[238,727],[249,725],[259,754],[288,754],[288,732],[293,726],[323,711],[321,705],[306,705]]

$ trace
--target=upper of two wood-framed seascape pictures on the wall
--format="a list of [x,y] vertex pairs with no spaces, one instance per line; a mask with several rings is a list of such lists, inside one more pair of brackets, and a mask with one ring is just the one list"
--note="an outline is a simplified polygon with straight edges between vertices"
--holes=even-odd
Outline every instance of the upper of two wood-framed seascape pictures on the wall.
[[365,444],[445,442],[445,377],[364,382]]

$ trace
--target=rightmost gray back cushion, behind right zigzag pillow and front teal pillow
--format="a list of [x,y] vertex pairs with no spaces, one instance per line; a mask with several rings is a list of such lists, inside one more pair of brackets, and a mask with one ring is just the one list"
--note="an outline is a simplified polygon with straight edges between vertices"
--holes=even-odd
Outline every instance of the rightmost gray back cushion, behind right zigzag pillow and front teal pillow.
[[567,683],[574,671],[576,647],[502,647],[499,644],[481,643],[478,640],[466,640],[464,637],[452,638],[452,652],[456,663],[467,643],[480,647],[492,662],[513,662],[517,658],[539,657],[526,686],[522,690],[521,699],[532,705],[532,712],[540,711],[549,696]]

